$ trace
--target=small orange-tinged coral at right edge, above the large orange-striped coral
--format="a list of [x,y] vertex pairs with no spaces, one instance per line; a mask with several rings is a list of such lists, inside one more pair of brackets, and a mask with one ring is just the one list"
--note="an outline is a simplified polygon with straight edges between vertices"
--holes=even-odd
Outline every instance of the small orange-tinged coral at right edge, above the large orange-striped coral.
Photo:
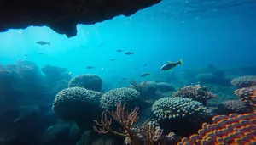
[[256,86],[236,89],[234,93],[241,101],[247,104],[250,112],[256,113]]

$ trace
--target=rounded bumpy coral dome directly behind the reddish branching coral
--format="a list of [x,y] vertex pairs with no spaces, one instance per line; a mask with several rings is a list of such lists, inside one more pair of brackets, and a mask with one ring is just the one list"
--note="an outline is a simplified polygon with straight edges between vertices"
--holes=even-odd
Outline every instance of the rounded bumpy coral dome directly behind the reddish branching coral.
[[131,103],[138,103],[140,99],[140,93],[137,90],[122,87],[110,90],[102,95],[100,98],[100,103],[102,109],[114,109],[116,103],[127,103],[130,105]]

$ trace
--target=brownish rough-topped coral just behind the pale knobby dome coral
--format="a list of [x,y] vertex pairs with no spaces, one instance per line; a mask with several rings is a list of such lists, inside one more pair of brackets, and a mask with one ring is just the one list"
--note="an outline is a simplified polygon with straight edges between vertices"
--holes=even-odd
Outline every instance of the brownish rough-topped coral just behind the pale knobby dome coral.
[[184,86],[173,92],[172,98],[192,98],[195,101],[206,104],[208,99],[217,98],[213,92],[206,91],[205,86]]

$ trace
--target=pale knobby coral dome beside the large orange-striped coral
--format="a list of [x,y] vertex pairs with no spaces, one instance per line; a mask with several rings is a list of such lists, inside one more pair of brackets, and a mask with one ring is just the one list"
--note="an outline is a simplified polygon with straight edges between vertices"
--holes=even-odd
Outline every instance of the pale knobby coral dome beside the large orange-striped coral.
[[152,112],[157,120],[174,118],[201,118],[211,116],[212,111],[191,98],[160,98],[155,101]]

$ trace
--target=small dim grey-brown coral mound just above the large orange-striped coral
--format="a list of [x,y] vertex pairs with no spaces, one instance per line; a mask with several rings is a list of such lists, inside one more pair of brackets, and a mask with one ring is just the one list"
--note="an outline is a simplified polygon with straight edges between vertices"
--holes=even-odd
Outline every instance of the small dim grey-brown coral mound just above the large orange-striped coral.
[[241,100],[228,100],[218,103],[219,114],[245,114],[248,113],[246,103]]

